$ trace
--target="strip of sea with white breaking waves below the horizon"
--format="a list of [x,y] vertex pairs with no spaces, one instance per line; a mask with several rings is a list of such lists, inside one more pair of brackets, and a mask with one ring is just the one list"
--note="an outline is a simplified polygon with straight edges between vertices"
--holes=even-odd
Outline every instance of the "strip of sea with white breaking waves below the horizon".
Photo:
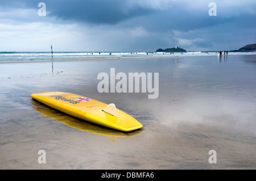
[[[47,62],[47,61],[77,61],[102,60],[113,58],[150,58],[175,56],[215,56],[217,52],[0,52],[0,63],[7,62]],[[230,53],[241,54],[241,53]]]

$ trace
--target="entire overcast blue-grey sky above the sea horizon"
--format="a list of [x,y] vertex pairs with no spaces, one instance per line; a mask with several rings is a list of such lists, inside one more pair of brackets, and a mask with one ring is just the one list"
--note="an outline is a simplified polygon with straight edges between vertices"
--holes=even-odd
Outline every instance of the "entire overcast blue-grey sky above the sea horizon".
[[[40,2],[46,16],[39,16]],[[210,16],[209,3],[216,4]],[[42,11],[40,11],[42,12]],[[210,11],[213,12],[213,11]],[[0,52],[234,50],[256,43],[255,0],[1,0]]]

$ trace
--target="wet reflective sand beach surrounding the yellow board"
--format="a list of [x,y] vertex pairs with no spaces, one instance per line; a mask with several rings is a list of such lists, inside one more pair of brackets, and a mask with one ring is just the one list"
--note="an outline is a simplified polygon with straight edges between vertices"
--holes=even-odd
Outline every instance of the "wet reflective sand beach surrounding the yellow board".
[[[0,169],[256,169],[255,54],[0,64]],[[99,73],[159,73],[159,96],[97,90]],[[115,81],[117,83],[118,81]],[[33,100],[63,91],[143,128],[118,132]],[[46,163],[39,163],[39,150]],[[209,163],[210,150],[217,163]]]

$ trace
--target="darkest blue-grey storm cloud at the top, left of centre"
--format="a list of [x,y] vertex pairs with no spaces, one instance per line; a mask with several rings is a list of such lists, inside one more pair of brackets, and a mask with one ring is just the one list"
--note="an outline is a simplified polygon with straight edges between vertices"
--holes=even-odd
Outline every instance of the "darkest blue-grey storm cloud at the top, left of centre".
[[[93,24],[115,24],[136,16],[152,14],[152,10],[143,7],[129,7],[127,1],[59,1],[49,2],[49,16],[63,20],[77,20]],[[54,9],[51,9],[51,5]]]

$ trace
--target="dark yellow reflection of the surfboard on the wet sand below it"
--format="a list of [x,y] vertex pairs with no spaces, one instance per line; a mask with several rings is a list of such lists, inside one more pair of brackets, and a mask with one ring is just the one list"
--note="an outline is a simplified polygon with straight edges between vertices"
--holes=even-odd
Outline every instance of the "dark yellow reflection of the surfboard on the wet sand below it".
[[127,133],[115,131],[113,129],[101,127],[100,125],[95,125],[93,123],[86,122],[76,117],[69,116],[60,111],[52,110],[48,106],[45,106],[44,104],[34,99],[32,99],[31,101],[34,110],[42,113],[42,115],[46,117],[51,117],[52,119],[55,119],[56,121],[53,122],[63,123],[65,125],[68,125],[69,127],[76,128],[81,131],[107,136],[111,142],[116,142],[117,137],[132,137],[137,134],[141,134],[142,132],[142,130]]

